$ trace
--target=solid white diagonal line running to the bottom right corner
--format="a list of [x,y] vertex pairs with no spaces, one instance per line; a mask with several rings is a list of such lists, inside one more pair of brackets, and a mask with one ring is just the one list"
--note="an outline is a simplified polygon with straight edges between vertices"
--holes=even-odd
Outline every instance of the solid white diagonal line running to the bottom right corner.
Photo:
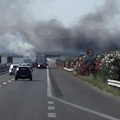
[[80,110],[83,110],[83,111],[86,111],[86,112],[89,112],[89,113],[92,113],[92,114],[94,114],[94,115],[98,115],[98,116],[103,117],[103,118],[107,118],[107,119],[109,119],[109,120],[120,120],[120,119],[118,119],[118,118],[115,118],[115,117],[106,115],[106,114],[104,114],[104,113],[100,113],[100,112],[97,112],[97,111],[94,111],[94,110],[91,110],[91,109],[88,109],[88,108],[85,108],[85,107],[82,107],[82,106],[79,106],[79,105],[76,105],[76,104],[67,102],[67,101],[65,101],[65,100],[61,100],[61,99],[56,98],[56,97],[51,97],[51,98],[53,98],[54,100],[59,101],[59,102],[61,102],[61,103],[64,103],[64,104],[66,104],[66,105],[75,107],[75,108],[77,108],[77,109],[80,109]]

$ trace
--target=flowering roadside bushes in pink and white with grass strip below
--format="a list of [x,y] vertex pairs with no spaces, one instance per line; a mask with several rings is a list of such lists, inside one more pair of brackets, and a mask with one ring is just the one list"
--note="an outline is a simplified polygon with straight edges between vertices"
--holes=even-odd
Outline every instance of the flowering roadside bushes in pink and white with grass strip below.
[[57,60],[56,65],[62,69],[73,68],[74,71],[68,73],[114,96],[120,96],[119,88],[107,85],[108,78],[120,81],[119,51],[95,55],[91,61],[88,61],[86,55],[75,59]]

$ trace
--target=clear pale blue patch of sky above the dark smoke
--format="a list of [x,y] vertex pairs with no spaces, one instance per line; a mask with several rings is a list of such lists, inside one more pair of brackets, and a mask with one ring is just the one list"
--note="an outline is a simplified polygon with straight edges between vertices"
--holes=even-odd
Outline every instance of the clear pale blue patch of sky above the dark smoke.
[[94,12],[97,6],[103,4],[104,0],[39,0],[31,3],[31,9],[37,20],[57,19],[70,27],[82,16]]

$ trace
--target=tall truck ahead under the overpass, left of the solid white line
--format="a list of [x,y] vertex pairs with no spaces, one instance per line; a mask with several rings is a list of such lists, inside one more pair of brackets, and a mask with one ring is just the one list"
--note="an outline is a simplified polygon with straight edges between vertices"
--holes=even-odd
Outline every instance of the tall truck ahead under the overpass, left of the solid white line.
[[36,55],[36,68],[47,68],[47,59],[45,55]]

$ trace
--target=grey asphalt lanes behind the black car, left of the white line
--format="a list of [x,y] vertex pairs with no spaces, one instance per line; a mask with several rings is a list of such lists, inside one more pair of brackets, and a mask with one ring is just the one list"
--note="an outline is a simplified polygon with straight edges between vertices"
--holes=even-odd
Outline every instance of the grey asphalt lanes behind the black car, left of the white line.
[[[2,75],[3,82],[14,76]],[[7,83],[0,88],[1,120],[47,120],[46,70],[35,70],[33,81]]]

